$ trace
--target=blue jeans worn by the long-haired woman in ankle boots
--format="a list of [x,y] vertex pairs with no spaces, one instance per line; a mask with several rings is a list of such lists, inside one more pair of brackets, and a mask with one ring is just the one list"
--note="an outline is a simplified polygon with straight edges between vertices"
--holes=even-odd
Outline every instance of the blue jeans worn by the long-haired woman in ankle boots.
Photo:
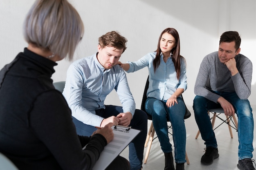
[[166,100],[161,101],[153,97],[148,97],[145,103],[146,112],[152,115],[153,126],[160,146],[164,153],[172,151],[172,145],[168,137],[167,120],[171,121],[173,128],[173,143],[175,152],[175,162],[186,162],[186,128],[184,124],[185,104],[180,97],[178,104],[167,108]]

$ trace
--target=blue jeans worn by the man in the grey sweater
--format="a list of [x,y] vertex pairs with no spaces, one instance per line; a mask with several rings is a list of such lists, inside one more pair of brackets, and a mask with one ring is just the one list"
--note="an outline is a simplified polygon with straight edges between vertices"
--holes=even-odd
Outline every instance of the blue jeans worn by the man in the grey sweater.
[[[252,146],[254,120],[249,100],[240,99],[234,92],[228,93],[213,91],[213,93],[224,97],[235,109],[238,117],[238,159],[252,158],[252,152],[254,150]],[[207,110],[219,107],[221,107],[220,104],[216,104],[202,96],[195,96],[193,104],[195,121],[198,124],[198,128],[201,132],[202,139],[205,141],[206,147],[211,146],[213,148],[217,148],[216,137],[213,132]]]

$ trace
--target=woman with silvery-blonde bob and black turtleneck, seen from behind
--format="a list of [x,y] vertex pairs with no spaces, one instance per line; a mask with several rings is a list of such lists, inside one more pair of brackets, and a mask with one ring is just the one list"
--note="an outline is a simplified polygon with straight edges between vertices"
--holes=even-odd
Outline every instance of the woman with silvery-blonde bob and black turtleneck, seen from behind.
[[[0,71],[0,152],[19,170],[91,170],[113,139],[112,124],[92,137],[78,136],[52,84],[56,61],[72,59],[83,30],[67,0],[37,0],[24,24],[28,47]],[[129,169],[122,157],[113,163],[108,170]]]

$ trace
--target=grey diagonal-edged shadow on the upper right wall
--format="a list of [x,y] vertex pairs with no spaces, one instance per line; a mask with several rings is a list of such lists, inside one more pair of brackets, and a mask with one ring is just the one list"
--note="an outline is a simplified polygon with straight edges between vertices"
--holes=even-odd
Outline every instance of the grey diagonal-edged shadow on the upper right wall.
[[[214,33],[216,33],[216,28],[218,29],[219,24],[224,24],[226,25],[226,29],[235,27],[236,30],[238,30],[239,32],[243,32],[243,40],[254,40],[256,38],[255,0],[237,0],[232,1],[232,3],[231,0],[140,1],[155,7],[159,11],[164,11],[167,15],[172,15],[173,17],[182,20],[184,23],[196,27],[197,29],[204,31],[209,35],[213,35]],[[220,11],[222,11],[222,16],[219,16]],[[237,20],[239,20],[239,24],[236,24]],[[216,25],[216,27],[213,27],[212,25]],[[248,28],[247,26],[245,27],[245,25],[250,26],[248,26]]]

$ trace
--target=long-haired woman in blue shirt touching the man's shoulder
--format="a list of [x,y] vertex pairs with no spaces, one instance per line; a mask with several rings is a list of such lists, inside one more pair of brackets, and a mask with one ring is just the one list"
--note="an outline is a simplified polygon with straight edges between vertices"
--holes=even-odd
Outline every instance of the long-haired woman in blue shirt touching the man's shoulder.
[[172,145],[169,142],[167,118],[173,126],[176,170],[184,170],[186,162],[185,105],[181,94],[186,90],[186,63],[180,55],[180,38],[173,28],[159,36],[157,50],[137,62],[121,63],[127,72],[148,67],[149,88],[145,103],[146,112],[152,115],[155,132],[165,156],[164,170],[174,170]]

